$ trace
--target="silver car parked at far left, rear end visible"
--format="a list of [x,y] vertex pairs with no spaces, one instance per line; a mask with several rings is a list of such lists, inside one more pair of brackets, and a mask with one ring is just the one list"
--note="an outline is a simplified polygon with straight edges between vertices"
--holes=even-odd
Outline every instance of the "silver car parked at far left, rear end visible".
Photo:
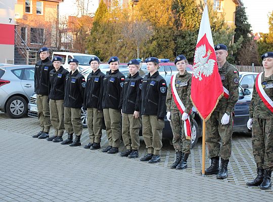
[[34,93],[33,65],[0,67],[0,110],[11,118],[27,114],[27,104]]

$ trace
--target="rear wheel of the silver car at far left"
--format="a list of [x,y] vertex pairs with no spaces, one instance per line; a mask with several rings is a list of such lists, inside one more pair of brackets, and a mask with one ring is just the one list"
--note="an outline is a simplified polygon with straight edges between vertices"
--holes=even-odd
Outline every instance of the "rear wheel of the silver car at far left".
[[13,96],[6,104],[6,112],[12,119],[19,119],[26,116],[27,103],[23,97]]

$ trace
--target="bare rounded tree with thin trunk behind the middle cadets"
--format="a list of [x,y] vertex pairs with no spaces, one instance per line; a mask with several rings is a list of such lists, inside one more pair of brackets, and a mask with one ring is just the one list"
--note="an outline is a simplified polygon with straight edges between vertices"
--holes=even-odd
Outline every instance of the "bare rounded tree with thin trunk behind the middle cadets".
[[138,58],[140,57],[140,46],[150,39],[153,35],[151,25],[145,21],[134,21],[125,24],[122,32],[123,36],[128,40],[132,40],[136,44]]

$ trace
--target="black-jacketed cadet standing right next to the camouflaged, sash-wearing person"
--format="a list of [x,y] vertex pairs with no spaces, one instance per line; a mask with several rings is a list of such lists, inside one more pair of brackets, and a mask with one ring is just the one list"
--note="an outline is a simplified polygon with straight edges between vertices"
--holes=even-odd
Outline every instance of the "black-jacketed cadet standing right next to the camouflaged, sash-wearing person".
[[148,154],[140,161],[160,162],[162,129],[166,115],[166,81],[157,71],[159,60],[150,57],[146,60],[149,74],[143,78],[141,92],[142,134]]

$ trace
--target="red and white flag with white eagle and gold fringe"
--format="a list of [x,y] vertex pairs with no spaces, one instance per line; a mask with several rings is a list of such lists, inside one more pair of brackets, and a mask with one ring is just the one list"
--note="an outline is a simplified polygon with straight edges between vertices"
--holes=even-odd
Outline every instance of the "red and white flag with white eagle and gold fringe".
[[207,121],[223,95],[207,5],[202,15],[193,68],[191,99],[201,118]]

